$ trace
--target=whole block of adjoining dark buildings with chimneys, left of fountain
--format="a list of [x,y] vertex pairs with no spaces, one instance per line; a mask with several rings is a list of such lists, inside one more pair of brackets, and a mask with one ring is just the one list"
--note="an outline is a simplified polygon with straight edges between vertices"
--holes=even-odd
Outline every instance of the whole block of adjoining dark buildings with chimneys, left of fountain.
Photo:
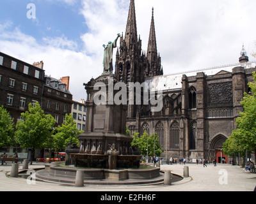
[[[69,78],[68,78],[69,79]],[[29,103],[38,102],[46,114],[63,123],[71,113],[72,94],[67,84],[45,75],[44,62],[28,64],[0,52],[0,105],[10,112],[16,124]]]

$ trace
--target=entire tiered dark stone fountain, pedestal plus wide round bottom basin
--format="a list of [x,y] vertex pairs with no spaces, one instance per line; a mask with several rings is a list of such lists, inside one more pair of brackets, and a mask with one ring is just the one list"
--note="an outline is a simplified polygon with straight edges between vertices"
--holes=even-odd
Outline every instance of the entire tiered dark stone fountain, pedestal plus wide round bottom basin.
[[[104,55],[104,61],[105,57],[109,56]],[[37,173],[38,179],[74,182],[79,169],[84,171],[85,184],[163,182],[159,168],[140,168],[140,151],[131,146],[132,137],[126,135],[127,105],[113,103],[119,90],[113,88],[118,80],[112,70],[104,67],[100,77],[84,84],[87,92],[86,131],[78,136],[79,147],[70,144],[66,149],[65,165],[45,164],[45,170]],[[95,98],[103,103],[96,104]]]

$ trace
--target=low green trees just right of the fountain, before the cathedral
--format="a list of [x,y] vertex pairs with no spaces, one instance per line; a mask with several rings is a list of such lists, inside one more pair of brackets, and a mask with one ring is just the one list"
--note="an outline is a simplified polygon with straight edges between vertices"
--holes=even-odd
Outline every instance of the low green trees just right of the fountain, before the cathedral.
[[[143,135],[140,136],[140,133],[133,133],[133,140],[131,145],[138,146],[138,149],[141,151],[141,155],[148,156],[161,156],[161,153],[164,150],[161,150],[161,146],[159,145],[159,136],[157,133],[148,136],[147,131],[144,131]],[[155,153],[155,154],[154,154]]]

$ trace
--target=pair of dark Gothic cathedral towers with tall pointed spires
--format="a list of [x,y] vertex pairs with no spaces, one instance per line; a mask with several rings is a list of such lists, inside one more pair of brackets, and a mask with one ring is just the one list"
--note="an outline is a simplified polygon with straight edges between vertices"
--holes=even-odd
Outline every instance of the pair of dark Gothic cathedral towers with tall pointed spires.
[[141,39],[137,34],[134,0],[130,1],[126,31],[120,38],[120,47],[116,52],[116,71],[118,80],[145,82],[145,78],[163,75],[161,57],[157,56],[154,8],[148,39],[147,52],[141,49]]

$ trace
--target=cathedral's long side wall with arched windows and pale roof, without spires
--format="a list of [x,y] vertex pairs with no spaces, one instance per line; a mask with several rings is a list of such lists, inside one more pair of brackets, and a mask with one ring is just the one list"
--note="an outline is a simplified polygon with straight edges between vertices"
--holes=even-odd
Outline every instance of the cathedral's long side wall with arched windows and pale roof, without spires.
[[[253,68],[246,68],[250,66]],[[180,89],[164,89],[164,82],[172,84],[175,75],[146,79],[163,91],[163,110],[151,115],[141,112],[136,119],[127,120],[127,127],[141,134],[145,130],[150,135],[156,132],[165,150],[162,157],[212,161],[236,128],[236,118],[243,111],[240,102],[244,92],[249,92],[248,82],[253,82],[256,71],[255,63],[250,62],[218,69],[231,71],[206,75],[214,71],[209,69],[189,73],[191,77],[180,75]]]

